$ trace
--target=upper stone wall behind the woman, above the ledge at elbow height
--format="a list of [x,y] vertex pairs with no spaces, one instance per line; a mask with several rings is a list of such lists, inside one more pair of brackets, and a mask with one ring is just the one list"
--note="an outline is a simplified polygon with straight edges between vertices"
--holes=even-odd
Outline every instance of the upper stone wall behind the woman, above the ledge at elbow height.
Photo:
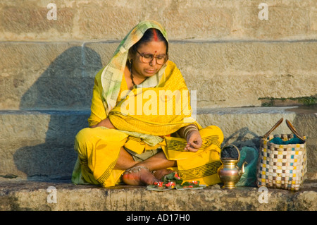
[[144,19],[168,31],[198,108],[315,96],[316,15],[313,0],[0,1],[0,108],[89,109],[94,75]]

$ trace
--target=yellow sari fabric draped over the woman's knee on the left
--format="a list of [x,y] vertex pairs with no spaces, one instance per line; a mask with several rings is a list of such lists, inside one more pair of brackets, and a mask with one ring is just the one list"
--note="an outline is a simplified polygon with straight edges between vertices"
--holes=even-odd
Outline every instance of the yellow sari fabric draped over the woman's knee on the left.
[[75,138],[80,167],[75,167],[73,171],[73,182],[81,184],[80,181],[83,180],[113,186],[123,173],[113,170],[113,167],[118,160],[120,147],[125,144],[127,138],[128,135],[119,130],[103,127],[80,130]]

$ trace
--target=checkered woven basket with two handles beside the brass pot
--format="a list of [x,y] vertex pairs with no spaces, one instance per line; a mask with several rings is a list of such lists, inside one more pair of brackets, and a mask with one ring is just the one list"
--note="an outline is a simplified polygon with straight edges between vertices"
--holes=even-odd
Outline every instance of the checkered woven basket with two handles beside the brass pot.
[[[300,136],[290,121],[287,126],[294,134],[270,135],[282,123],[283,118],[261,138],[259,162],[257,166],[256,184],[258,187],[299,190],[307,171],[306,137]],[[302,144],[276,145],[270,142],[273,138],[290,140],[300,138]]]

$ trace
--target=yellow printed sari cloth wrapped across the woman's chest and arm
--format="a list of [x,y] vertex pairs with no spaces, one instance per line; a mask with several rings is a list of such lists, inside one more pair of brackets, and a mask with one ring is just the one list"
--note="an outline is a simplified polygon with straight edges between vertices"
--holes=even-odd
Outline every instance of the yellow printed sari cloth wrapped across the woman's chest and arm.
[[172,61],[168,61],[156,87],[139,87],[121,94],[122,100],[109,113],[111,123],[119,130],[168,135],[195,123],[190,117],[189,90]]

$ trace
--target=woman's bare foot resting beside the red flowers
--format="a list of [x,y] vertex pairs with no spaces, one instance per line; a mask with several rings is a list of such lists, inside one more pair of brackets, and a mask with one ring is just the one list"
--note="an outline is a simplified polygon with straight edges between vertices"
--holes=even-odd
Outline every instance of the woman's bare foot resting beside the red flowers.
[[128,169],[123,174],[123,182],[131,185],[149,185],[154,182],[159,182],[159,180],[144,166],[135,166],[131,169]]

